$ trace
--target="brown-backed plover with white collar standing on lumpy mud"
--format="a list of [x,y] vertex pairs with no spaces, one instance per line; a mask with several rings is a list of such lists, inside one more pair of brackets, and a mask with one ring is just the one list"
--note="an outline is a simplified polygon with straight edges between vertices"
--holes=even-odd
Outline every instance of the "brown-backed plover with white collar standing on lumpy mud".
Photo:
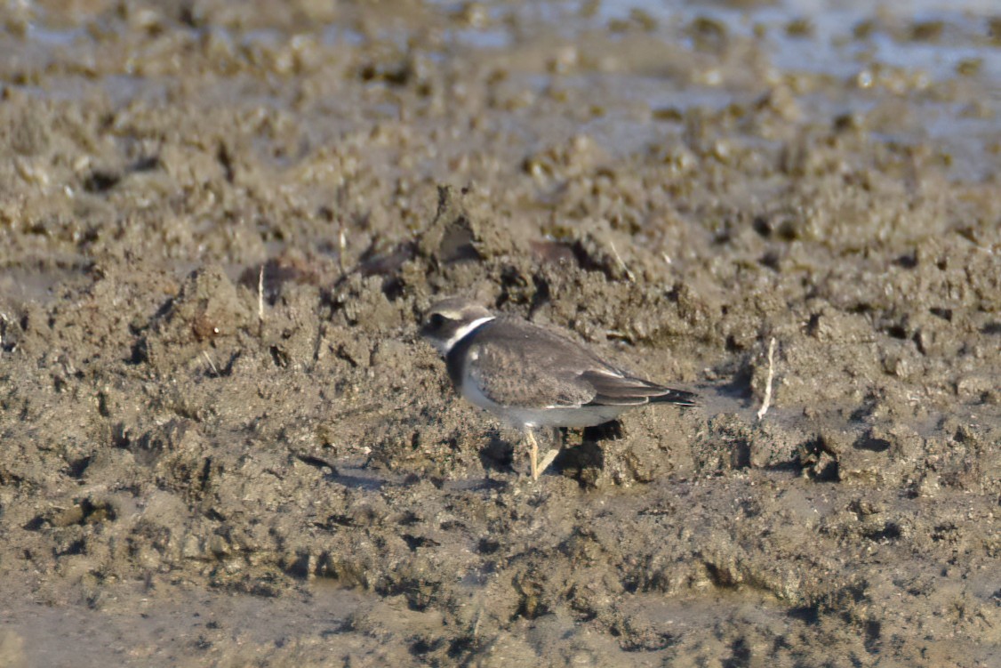
[[435,303],[420,332],[462,397],[522,430],[534,480],[541,473],[537,427],[593,427],[646,404],[696,405],[694,393],[645,381],[561,333],[468,299]]

